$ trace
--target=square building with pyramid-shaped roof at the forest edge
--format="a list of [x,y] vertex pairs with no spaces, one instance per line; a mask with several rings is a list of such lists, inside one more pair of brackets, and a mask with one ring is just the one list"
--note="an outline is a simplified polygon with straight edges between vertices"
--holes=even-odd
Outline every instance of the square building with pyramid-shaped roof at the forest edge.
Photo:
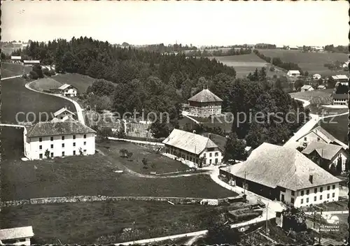
[[188,99],[188,113],[197,117],[221,115],[222,103],[223,100],[209,89],[203,89],[202,92]]

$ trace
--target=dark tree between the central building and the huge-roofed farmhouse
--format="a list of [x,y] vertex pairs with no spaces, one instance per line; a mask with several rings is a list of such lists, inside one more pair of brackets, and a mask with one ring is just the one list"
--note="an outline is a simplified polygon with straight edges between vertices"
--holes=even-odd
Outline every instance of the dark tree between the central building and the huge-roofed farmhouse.
[[244,140],[239,140],[236,133],[230,133],[225,145],[223,161],[228,162],[230,159],[242,161],[246,159],[247,153],[245,148],[246,143],[244,143]]

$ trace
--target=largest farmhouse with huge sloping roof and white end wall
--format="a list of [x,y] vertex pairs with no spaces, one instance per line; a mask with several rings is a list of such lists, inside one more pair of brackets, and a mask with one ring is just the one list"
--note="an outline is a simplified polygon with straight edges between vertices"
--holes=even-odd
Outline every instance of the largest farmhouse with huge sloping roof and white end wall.
[[339,198],[341,180],[290,147],[263,143],[246,161],[220,173],[233,185],[297,208]]

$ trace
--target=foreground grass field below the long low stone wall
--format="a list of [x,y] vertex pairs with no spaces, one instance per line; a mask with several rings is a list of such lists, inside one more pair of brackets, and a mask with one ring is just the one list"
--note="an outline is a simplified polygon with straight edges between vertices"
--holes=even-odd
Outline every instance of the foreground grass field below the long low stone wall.
[[[64,203],[3,208],[1,228],[33,226],[34,244],[94,244],[171,236],[207,229],[218,207],[148,201]],[[133,228],[134,233],[123,233]],[[104,238],[109,240],[104,240]]]

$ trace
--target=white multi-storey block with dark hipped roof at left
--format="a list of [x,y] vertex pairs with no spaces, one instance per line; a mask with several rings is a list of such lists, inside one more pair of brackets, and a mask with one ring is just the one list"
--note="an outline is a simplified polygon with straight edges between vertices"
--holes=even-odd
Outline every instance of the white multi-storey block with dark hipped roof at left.
[[78,121],[38,122],[24,130],[25,157],[30,160],[95,153],[96,131]]

